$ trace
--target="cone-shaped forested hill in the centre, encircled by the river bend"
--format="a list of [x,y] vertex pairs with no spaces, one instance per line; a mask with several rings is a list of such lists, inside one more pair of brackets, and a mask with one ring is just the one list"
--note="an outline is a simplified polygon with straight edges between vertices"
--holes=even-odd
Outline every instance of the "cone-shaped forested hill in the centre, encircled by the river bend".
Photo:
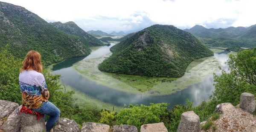
[[99,70],[157,77],[180,77],[194,59],[213,53],[192,34],[172,25],[152,25],[111,48]]

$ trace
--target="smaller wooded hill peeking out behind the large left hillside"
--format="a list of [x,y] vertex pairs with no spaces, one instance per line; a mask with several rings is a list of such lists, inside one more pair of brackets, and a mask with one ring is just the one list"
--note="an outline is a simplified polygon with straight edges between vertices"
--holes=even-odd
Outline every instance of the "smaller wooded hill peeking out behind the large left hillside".
[[97,39],[96,37],[93,37],[90,34],[87,34],[83,29],[79,28],[78,25],[76,25],[75,22],[50,22],[51,25],[53,25],[55,28],[60,29],[61,31],[64,31],[71,35],[76,35],[79,37],[80,41],[88,46],[101,46],[103,43]]

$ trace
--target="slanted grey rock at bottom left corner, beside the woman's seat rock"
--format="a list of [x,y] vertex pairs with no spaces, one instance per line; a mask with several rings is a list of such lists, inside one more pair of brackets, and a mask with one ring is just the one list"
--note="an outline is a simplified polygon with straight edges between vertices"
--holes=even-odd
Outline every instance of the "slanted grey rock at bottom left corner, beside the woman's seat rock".
[[0,130],[4,132],[20,132],[21,116],[18,114],[18,110],[20,110],[21,107],[22,105],[17,107],[12,114],[9,115],[7,120],[0,127]]

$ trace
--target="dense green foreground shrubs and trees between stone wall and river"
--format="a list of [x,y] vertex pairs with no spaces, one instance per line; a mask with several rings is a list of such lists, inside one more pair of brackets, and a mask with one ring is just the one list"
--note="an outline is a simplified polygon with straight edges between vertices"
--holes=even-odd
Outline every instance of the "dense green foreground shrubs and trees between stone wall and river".
[[[8,45],[0,48],[0,99],[21,104],[18,76],[22,60],[9,52]],[[61,110],[61,117],[73,119],[80,126],[84,122],[111,126],[129,124],[137,126],[140,130],[142,124],[163,122],[169,132],[176,132],[183,112],[193,110],[200,117],[200,121],[207,120],[211,123],[218,118],[218,113],[214,112],[217,104],[224,102],[239,104],[240,95],[244,92],[256,95],[256,48],[239,51],[237,56],[230,55],[227,65],[230,67],[230,72],[222,70],[221,76],[214,75],[216,90],[209,101],[203,101],[195,107],[192,104],[193,101],[187,100],[186,105],[175,105],[172,110],[167,109],[167,103],[149,106],[129,105],[128,108],[123,108],[119,112],[90,108],[84,110],[74,105],[73,91],[62,92],[64,90],[61,90],[58,84],[59,75],[51,75],[47,70],[43,70],[43,74],[51,93],[49,101]],[[209,126],[202,126],[202,129],[207,129]]]

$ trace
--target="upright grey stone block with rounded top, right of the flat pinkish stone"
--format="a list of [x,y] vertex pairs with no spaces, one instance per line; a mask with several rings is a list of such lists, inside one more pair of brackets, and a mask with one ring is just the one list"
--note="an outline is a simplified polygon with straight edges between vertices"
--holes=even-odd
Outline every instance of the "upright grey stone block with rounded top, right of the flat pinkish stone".
[[183,112],[177,132],[201,132],[199,116],[194,111]]

